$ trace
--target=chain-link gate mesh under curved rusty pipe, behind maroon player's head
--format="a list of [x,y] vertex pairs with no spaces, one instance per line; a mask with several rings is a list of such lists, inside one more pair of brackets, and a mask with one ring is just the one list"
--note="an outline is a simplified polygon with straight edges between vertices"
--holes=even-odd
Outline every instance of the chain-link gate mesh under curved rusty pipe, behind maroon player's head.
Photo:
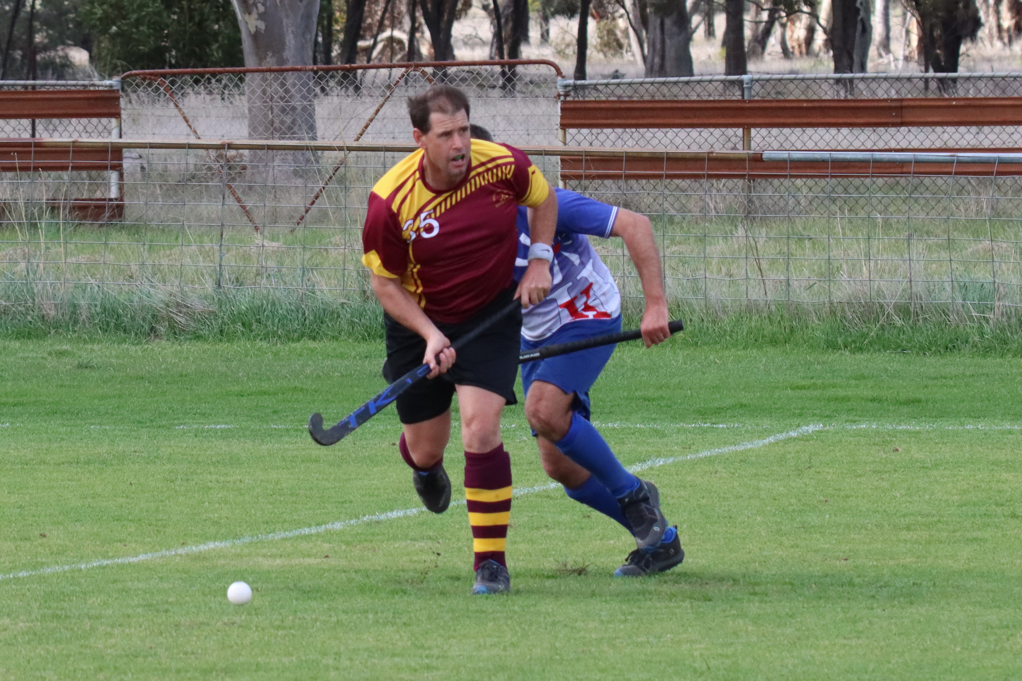
[[132,71],[122,81],[124,130],[132,139],[406,143],[407,98],[447,83],[497,139],[557,144],[559,75],[543,60]]

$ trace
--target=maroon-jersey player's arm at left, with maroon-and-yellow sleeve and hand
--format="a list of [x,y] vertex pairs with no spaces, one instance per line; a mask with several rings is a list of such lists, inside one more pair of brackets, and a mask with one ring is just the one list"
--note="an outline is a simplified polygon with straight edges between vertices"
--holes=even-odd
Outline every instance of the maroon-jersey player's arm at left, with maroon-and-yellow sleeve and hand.
[[432,370],[428,378],[443,374],[455,361],[451,341],[426,317],[412,294],[402,286],[401,275],[408,270],[408,244],[402,236],[398,216],[386,200],[375,192],[369,195],[369,209],[362,230],[362,263],[372,273],[370,283],[383,310],[398,324],[422,336],[426,351],[422,361]]

